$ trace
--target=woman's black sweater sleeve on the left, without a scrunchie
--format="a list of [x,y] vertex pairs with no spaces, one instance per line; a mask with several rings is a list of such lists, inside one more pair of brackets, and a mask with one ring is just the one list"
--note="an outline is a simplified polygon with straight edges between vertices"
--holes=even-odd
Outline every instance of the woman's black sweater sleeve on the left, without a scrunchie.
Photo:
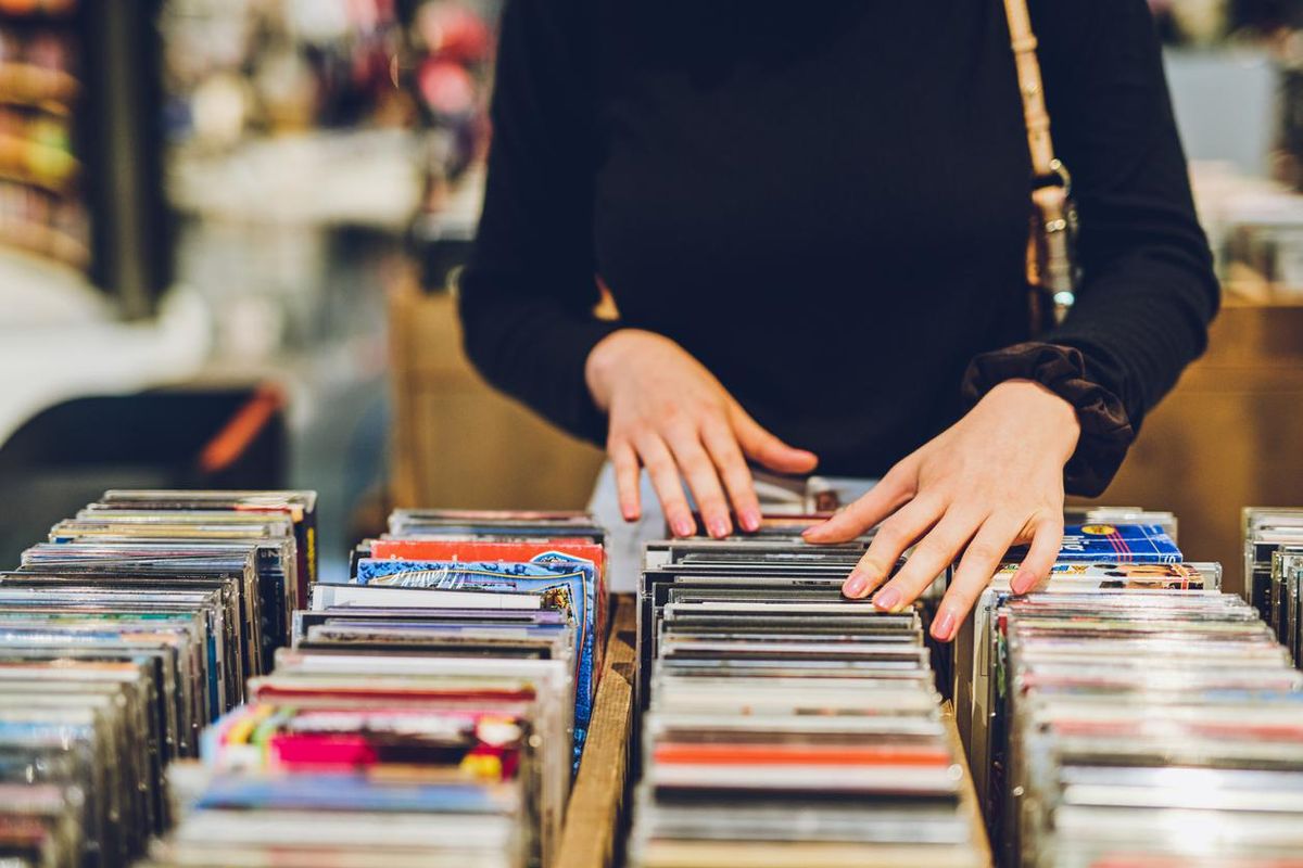
[[509,0],[503,13],[483,213],[459,281],[464,345],[491,384],[601,442],[584,383],[597,320],[590,25],[579,0]]

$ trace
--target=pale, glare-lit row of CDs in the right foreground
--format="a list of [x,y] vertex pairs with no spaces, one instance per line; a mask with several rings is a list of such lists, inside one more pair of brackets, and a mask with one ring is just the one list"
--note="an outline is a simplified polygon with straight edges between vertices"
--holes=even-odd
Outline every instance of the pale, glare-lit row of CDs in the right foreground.
[[1214,591],[1005,601],[1009,864],[1281,865],[1303,847],[1303,675]]

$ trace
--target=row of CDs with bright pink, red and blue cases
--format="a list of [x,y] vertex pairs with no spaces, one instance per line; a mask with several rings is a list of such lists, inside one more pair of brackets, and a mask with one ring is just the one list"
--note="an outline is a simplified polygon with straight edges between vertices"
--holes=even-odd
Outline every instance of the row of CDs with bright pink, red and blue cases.
[[395,513],[180,770],[154,864],[555,864],[605,563],[584,514]]

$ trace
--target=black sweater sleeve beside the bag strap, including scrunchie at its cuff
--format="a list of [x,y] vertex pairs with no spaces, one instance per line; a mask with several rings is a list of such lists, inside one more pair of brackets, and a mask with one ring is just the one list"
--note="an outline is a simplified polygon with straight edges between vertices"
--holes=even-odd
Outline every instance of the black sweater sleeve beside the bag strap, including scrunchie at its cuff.
[[[976,393],[1014,376],[1046,381],[1046,371],[1074,384],[1059,390],[1078,402],[1075,466],[1089,470],[1074,475],[1070,465],[1068,489],[1097,495],[1145,414],[1203,353],[1220,288],[1148,7],[1083,5],[1089,18],[1080,22],[1046,16],[1054,29],[1041,40],[1054,143],[1072,172],[1080,213],[1083,284],[1062,325],[1037,345],[979,357],[968,380],[984,380]],[[1062,358],[1046,366],[1045,345],[1065,347]],[[1068,368],[1100,388],[1085,389]]]

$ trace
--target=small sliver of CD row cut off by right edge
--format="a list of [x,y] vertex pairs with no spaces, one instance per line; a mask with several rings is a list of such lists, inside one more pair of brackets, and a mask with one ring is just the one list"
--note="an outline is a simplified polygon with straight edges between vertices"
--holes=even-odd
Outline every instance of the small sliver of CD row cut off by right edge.
[[1244,509],[1244,597],[1303,661],[1299,579],[1303,575],[1303,509]]

